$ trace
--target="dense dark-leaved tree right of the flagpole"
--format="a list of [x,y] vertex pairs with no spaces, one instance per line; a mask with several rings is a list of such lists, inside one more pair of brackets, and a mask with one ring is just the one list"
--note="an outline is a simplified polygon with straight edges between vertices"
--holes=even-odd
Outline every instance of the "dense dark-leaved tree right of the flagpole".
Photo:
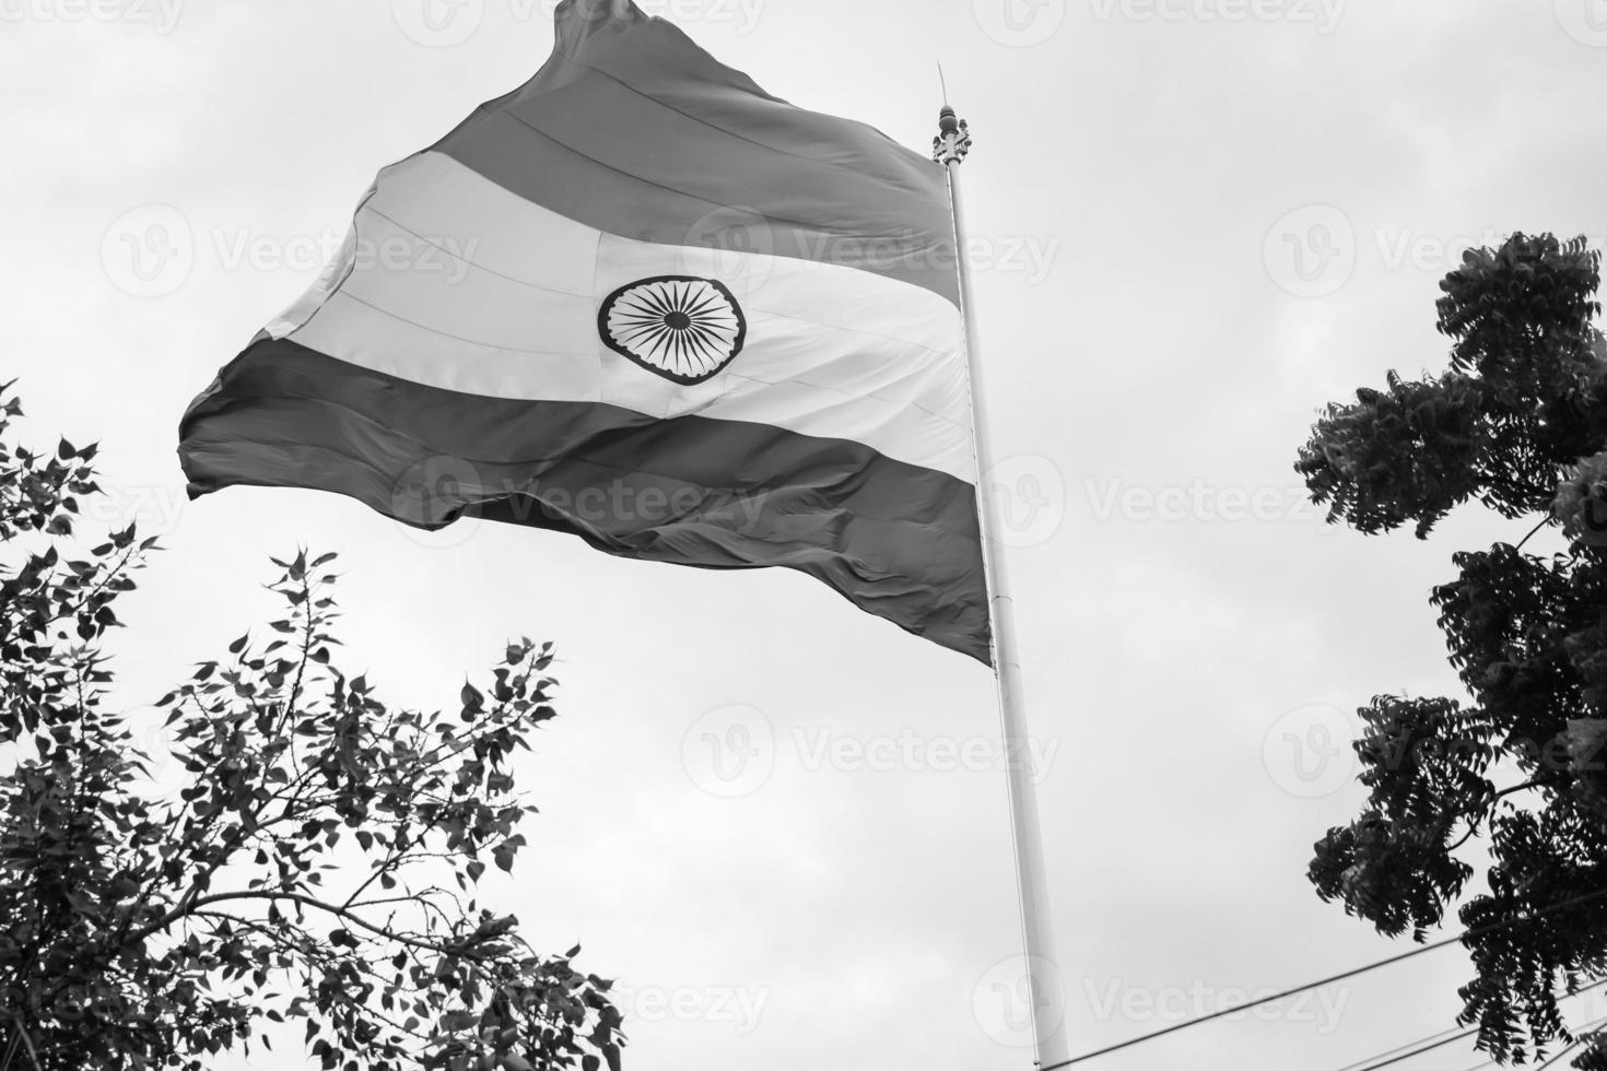
[[[1475,976],[1462,1023],[1501,1063],[1607,1040],[1570,1032],[1559,996],[1607,978],[1607,345],[1594,321],[1599,254],[1583,239],[1514,234],[1441,283],[1441,376],[1329,405],[1297,470],[1329,520],[1427,538],[1478,501],[1531,519],[1515,546],[1453,557],[1438,609],[1462,698],[1380,695],[1355,750],[1369,796],[1318,841],[1310,880],[1382,933],[1438,926],[1462,904]],[[1559,530],[1567,552],[1525,552]],[[1560,541],[1559,541],[1560,543]],[[1578,1026],[1578,1024],[1575,1024]]]

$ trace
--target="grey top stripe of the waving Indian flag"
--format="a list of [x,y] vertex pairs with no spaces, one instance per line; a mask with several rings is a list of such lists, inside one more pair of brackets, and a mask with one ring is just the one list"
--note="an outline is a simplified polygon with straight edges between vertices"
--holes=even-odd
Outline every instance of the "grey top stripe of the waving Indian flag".
[[564,0],[556,34],[530,82],[434,149],[611,234],[837,263],[959,303],[942,167],[771,96],[635,3]]

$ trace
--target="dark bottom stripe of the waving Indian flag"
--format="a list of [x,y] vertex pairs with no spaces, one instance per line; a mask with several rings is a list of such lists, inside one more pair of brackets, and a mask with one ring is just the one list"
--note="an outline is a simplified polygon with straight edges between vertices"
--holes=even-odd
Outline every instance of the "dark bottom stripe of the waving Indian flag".
[[781,427],[487,398],[262,337],[185,414],[190,495],[347,495],[440,528],[471,514],[643,560],[805,572],[863,610],[988,662],[975,488]]

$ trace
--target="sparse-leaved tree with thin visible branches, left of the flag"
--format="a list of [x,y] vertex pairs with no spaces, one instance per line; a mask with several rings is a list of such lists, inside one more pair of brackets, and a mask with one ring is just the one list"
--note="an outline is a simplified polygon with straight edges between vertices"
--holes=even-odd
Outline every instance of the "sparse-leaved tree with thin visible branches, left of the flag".
[[337,668],[333,556],[275,562],[283,620],[157,705],[164,796],[101,647],[154,541],[77,551],[95,448],[31,454],[19,414],[0,390],[0,1071],[199,1071],[294,1020],[326,1069],[617,1069],[609,983],[474,899],[525,845],[551,645],[452,716],[392,707]]

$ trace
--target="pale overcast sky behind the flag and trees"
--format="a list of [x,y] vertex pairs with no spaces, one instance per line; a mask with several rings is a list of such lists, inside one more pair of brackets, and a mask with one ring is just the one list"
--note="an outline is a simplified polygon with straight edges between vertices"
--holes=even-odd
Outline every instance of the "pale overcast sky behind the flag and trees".
[[[166,533],[122,607],[119,702],[264,620],[268,554],[339,551],[349,665],[392,700],[450,705],[509,636],[561,647],[562,716],[519,771],[543,812],[485,899],[620,979],[628,1066],[1027,1071],[979,665],[795,573],[421,536],[302,491],[183,503],[185,405],[315,278],[373,173],[546,58],[550,3],[456,3],[0,0],[6,377],[27,435],[103,440],[100,520]],[[1462,247],[1601,244],[1607,5],[646,6],[921,151],[942,59],[971,120],[1072,1049],[1403,951],[1303,877],[1361,798],[1343,711],[1454,689],[1429,588],[1522,531],[1329,530],[1290,462],[1323,403],[1441,368]],[[1337,1069],[1451,1026],[1467,976],[1437,952],[1090,1066]]]

